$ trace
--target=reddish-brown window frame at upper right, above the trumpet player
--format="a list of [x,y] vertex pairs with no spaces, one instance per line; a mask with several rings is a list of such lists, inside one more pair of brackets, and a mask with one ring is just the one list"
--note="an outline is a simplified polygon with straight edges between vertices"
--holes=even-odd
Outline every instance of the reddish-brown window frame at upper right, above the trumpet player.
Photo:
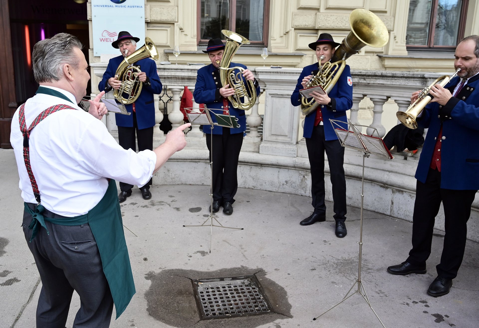
[[[434,34],[436,31],[437,8],[439,0],[433,0],[431,5],[431,14],[429,16],[428,44],[427,45],[409,45],[406,44],[408,50],[454,50],[456,45],[451,46],[434,46]],[[464,37],[466,29],[466,18],[468,14],[469,0],[463,0],[461,12],[459,14],[459,25],[457,26],[457,41]],[[407,27],[406,27],[407,28]]]

